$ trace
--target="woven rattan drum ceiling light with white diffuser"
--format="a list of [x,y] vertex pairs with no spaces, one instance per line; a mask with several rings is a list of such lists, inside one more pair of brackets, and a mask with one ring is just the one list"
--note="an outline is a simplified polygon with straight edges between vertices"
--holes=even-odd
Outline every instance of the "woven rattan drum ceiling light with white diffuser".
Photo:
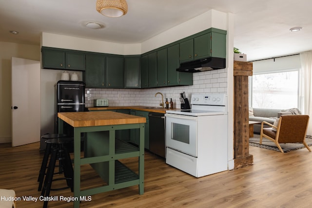
[[97,0],[97,11],[106,17],[117,18],[127,14],[126,0]]

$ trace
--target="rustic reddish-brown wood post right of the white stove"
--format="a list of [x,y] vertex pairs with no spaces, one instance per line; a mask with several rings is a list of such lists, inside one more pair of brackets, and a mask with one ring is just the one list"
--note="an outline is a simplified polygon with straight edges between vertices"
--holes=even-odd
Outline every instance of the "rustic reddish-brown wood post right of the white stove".
[[253,63],[234,61],[234,169],[254,159],[249,154],[248,76],[253,76]]

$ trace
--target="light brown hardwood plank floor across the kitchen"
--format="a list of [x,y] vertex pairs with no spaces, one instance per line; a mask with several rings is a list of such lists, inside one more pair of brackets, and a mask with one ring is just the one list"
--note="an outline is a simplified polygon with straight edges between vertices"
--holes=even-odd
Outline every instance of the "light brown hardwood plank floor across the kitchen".
[[[39,143],[11,148],[0,144],[0,189],[14,189],[18,197],[39,197]],[[312,206],[312,152],[281,153],[250,147],[254,165],[195,178],[145,154],[145,189],[118,189],[91,196],[82,208],[308,208]],[[212,158],[214,159],[214,158]],[[124,162],[136,169],[137,159]],[[82,167],[84,187],[101,183],[89,167]],[[88,178],[88,180],[86,180]],[[64,183],[64,182],[61,182]],[[53,185],[57,185],[56,183]],[[70,189],[53,196],[73,196]],[[43,202],[18,201],[17,208],[41,208]],[[51,201],[48,207],[72,208],[72,202]]]

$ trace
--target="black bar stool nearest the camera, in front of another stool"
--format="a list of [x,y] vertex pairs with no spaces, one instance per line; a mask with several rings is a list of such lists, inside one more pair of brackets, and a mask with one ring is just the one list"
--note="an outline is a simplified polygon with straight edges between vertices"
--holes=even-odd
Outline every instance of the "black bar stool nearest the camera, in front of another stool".
[[[66,148],[66,145],[69,143],[73,143],[73,141],[74,140],[72,138],[47,139],[45,141],[47,146],[51,146],[51,157],[46,177],[44,179],[44,184],[41,190],[41,196],[49,196],[51,190],[63,190],[70,188],[72,192],[74,191],[74,169],[70,154]],[[64,177],[53,179],[53,175],[55,174],[55,164],[57,160],[59,160],[59,167],[62,168],[62,172],[59,172],[59,174],[63,173]],[[51,189],[52,181],[56,180],[66,180],[67,187]],[[46,208],[47,205],[48,201],[44,201],[43,208]]]

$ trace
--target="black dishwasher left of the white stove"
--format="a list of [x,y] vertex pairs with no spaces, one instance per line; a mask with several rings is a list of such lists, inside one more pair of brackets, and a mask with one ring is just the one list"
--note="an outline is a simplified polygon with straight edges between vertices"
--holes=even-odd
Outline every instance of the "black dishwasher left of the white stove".
[[165,114],[149,113],[150,151],[165,158]]

